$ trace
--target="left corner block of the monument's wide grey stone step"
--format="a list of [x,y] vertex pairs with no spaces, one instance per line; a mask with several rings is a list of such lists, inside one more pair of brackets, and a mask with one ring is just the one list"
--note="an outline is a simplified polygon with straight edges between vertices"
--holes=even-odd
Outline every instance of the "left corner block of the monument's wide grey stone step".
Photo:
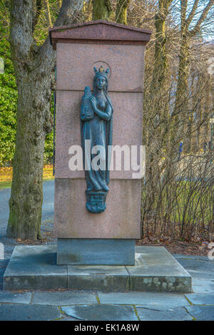
[[16,246],[4,272],[4,289],[61,289],[67,285],[66,266],[56,265],[55,245]]

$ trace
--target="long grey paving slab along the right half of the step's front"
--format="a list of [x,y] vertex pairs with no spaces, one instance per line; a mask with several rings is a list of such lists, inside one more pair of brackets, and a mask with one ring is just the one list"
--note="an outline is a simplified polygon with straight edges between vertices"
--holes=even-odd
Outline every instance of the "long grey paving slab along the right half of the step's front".
[[188,306],[183,294],[152,293],[152,292],[98,292],[101,304],[155,305],[161,309]]

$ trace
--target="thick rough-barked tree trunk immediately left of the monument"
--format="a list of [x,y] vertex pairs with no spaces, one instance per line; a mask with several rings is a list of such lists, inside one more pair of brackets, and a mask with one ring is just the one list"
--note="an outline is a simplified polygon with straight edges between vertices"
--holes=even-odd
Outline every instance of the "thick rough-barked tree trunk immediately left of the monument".
[[[78,20],[83,1],[63,0],[54,26]],[[10,43],[18,89],[16,150],[7,235],[41,238],[44,141],[52,129],[51,88],[56,52],[49,38],[37,46],[40,0],[11,0]]]

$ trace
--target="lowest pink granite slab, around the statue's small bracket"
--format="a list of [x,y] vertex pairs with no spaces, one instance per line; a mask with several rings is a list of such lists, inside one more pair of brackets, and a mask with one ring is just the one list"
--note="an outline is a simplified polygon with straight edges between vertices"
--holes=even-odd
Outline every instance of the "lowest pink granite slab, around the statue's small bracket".
[[111,180],[106,210],[86,210],[86,181],[55,180],[54,234],[58,238],[139,239],[141,180]]

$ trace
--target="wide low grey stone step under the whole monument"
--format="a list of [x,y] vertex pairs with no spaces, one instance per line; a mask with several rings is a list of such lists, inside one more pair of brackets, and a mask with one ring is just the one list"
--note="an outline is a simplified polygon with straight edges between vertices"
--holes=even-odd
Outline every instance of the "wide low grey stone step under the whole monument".
[[4,289],[191,292],[190,274],[164,247],[136,247],[133,266],[57,265],[55,245],[16,246]]

